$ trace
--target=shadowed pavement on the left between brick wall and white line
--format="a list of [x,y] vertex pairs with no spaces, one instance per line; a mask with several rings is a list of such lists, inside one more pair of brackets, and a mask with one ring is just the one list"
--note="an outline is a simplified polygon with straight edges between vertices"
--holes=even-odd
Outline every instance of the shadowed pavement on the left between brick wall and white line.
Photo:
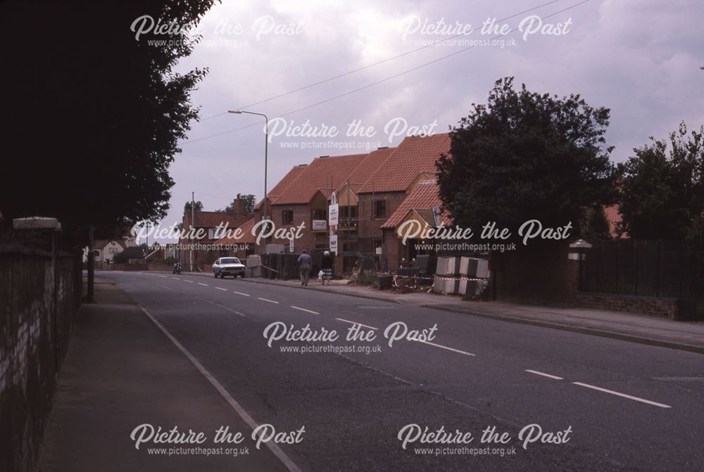
[[217,455],[177,444],[137,449],[130,435],[143,424],[210,437],[220,425],[251,429],[113,281],[96,277],[95,287],[96,304],[82,305],[75,321],[37,471],[287,470],[267,448],[246,451],[245,443]]

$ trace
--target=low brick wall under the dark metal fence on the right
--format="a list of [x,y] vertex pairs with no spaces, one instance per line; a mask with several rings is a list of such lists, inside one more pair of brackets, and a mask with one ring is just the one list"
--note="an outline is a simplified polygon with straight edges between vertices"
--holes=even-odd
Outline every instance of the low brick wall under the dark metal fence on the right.
[[677,298],[655,298],[618,293],[580,292],[575,297],[577,305],[598,310],[648,314],[655,317],[679,319]]

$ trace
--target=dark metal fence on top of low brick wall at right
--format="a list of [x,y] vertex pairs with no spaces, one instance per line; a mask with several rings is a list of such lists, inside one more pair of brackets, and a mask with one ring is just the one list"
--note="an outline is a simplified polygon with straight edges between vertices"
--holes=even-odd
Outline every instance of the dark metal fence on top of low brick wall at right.
[[704,316],[704,250],[667,241],[604,241],[581,250],[579,290],[678,298],[690,318]]

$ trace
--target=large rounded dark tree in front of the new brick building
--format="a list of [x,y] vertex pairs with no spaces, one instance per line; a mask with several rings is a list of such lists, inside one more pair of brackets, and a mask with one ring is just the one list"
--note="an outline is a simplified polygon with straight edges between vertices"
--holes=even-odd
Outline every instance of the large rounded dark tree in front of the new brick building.
[[498,80],[487,103],[472,103],[451,130],[451,152],[437,163],[444,207],[476,234],[491,221],[515,236],[528,219],[572,222],[578,234],[586,208],[615,198],[609,113],[579,95],[516,91],[513,77]]

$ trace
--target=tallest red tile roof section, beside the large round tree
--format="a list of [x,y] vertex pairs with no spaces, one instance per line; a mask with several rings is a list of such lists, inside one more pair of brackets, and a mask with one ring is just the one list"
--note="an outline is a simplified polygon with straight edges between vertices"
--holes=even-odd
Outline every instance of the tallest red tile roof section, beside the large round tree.
[[421,172],[435,174],[436,160],[449,151],[448,133],[409,136],[384,160],[359,193],[404,191]]

